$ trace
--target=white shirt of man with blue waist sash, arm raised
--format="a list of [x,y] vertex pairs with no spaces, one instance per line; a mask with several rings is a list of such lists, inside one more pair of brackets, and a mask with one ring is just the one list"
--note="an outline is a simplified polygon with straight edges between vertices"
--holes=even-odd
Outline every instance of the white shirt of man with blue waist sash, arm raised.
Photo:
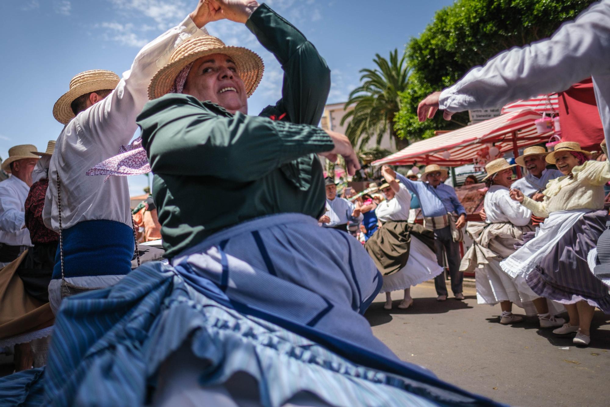
[[176,46],[198,29],[190,17],[151,41],[138,52],[131,70],[123,73],[117,88],[106,98],[80,112],[66,124],[57,139],[49,166],[49,189],[45,196],[43,222],[59,231],[57,173],[62,199],[62,227],[70,228],[85,220],[115,220],[130,228],[127,177],[87,176],[85,171],[118,154],[137,129],[135,118],[148,101],[152,76],[169,62]]

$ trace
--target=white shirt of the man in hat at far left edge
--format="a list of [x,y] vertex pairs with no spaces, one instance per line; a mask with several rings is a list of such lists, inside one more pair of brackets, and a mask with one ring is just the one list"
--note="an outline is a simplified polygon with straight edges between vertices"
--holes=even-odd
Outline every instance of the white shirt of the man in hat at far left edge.
[[26,226],[27,194],[30,187],[16,176],[0,182],[0,243],[31,246]]

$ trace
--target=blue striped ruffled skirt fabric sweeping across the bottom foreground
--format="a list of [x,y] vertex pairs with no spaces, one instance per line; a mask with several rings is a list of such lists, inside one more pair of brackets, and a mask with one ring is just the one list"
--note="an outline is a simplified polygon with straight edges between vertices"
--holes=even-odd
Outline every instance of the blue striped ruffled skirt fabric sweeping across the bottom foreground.
[[[190,344],[208,362],[201,386],[246,372],[263,406],[281,406],[299,392],[335,406],[497,406],[419,367],[250,308],[202,283],[193,286],[171,266],[151,262],[116,286],[66,298],[44,374],[2,378],[0,400],[16,400],[29,375],[28,389],[44,386],[42,405],[143,405],[162,363]],[[34,396],[23,405],[40,406],[40,392]]]

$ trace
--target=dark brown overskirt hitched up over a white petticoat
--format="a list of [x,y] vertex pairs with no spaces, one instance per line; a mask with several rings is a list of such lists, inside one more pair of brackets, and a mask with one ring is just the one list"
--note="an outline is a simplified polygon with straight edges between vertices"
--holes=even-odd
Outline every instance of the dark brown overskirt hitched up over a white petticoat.
[[415,234],[430,250],[436,251],[434,232],[406,220],[390,220],[384,223],[367,240],[364,247],[382,275],[389,276],[396,273],[407,264],[411,234]]

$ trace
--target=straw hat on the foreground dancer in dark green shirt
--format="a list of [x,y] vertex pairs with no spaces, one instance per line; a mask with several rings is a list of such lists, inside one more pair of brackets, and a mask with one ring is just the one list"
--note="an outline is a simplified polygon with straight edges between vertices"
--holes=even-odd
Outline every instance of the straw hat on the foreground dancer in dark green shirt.
[[189,63],[211,54],[226,54],[235,62],[237,73],[242,78],[246,93],[251,96],[263,77],[265,65],[263,60],[240,46],[226,46],[223,41],[212,35],[201,35],[184,41],[171,53],[170,63],[161,68],[152,77],[148,85],[148,98],[156,99],[170,92],[176,76]]

